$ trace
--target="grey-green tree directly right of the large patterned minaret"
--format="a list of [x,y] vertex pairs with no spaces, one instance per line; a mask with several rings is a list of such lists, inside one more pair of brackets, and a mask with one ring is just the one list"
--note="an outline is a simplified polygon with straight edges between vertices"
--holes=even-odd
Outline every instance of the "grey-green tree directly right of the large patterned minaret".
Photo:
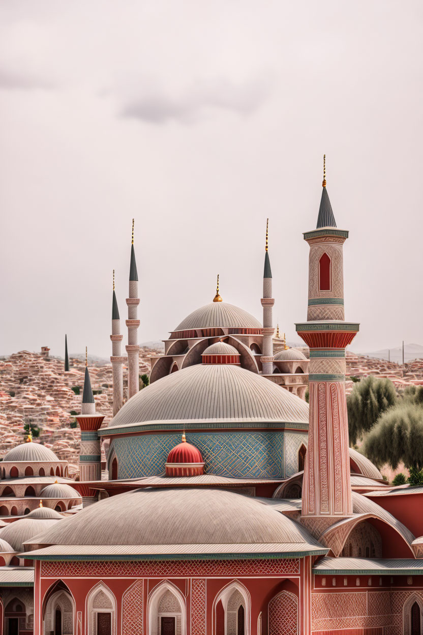
[[389,379],[370,375],[357,382],[347,397],[349,441],[353,445],[377,422],[380,415],[397,402],[394,384]]

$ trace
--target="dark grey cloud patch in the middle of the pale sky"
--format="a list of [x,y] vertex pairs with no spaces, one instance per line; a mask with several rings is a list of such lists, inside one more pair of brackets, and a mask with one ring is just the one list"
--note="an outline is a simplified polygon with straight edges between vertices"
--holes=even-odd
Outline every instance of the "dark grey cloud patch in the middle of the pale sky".
[[255,112],[268,97],[268,78],[233,84],[225,79],[197,82],[179,95],[167,94],[158,86],[145,88],[140,95],[126,99],[121,116],[153,124],[174,120],[195,123],[209,110],[229,110],[247,116]]

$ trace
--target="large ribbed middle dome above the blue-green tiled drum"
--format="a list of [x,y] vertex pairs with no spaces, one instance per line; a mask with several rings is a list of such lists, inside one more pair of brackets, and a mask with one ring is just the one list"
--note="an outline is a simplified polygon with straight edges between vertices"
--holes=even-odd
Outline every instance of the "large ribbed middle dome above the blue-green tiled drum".
[[195,364],[137,392],[109,427],[202,420],[216,427],[225,421],[308,423],[308,404],[239,366]]

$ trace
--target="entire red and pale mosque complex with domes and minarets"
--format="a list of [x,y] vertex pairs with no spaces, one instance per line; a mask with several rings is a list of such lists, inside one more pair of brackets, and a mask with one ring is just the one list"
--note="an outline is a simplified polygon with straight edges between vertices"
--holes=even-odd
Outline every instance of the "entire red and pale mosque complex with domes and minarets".
[[79,481],[31,439],[1,464],[1,633],[422,634],[423,488],[388,486],[349,448],[345,350],[359,324],[344,318],[348,231],[326,185],[304,233],[296,330],[309,358],[274,337],[266,240],[263,325],[218,288],[140,391],[133,241],[127,358],[112,297],[114,417],[101,427],[87,367]]

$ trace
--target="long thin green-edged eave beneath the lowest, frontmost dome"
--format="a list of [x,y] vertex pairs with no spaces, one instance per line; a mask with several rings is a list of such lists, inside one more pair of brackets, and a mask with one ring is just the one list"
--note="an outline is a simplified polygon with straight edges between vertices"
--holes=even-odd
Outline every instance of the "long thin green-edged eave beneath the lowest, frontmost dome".
[[118,560],[131,562],[134,560],[284,560],[289,558],[304,558],[305,556],[326,556],[329,549],[313,549],[308,551],[289,551],[283,553],[240,553],[240,554],[154,554],[152,556],[146,556],[145,554],[130,556],[110,556],[110,555],[97,555],[97,556],[31,556],[30,551],[25,552],[25,558],[29,560],[42,560],[42,561],[54,561],[62,562],[75,560],[75,561],[91,561],[102,562],[107,560]]

